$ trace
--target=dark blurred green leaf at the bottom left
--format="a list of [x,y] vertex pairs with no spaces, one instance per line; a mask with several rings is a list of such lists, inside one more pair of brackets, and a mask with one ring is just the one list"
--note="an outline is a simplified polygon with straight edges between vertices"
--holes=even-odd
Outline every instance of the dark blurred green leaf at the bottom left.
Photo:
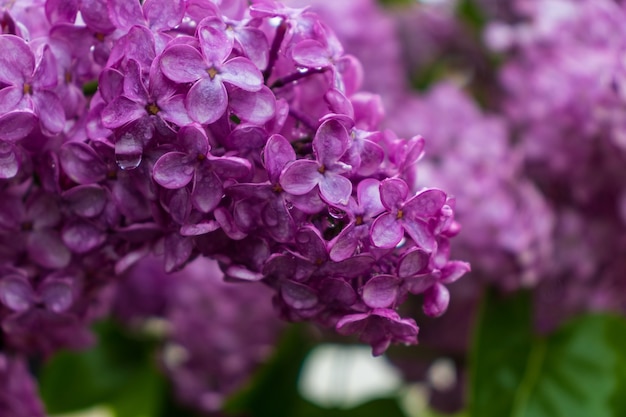
[[95,327],[97,345],[60,352],[40,373],[40,392],[50,414],[105,404],[116,417],[156,416],[164,378],[153,361],[154,343],[128,335],[112,322]]

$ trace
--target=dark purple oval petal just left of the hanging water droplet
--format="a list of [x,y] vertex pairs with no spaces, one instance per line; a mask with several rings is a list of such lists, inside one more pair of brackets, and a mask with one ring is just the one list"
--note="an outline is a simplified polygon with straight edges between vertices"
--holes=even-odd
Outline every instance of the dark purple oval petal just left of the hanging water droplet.
[[106,176],[106,165],[96,151],[85,143],[64,144],[59,160],[63,171],[78,184],[93,184]]

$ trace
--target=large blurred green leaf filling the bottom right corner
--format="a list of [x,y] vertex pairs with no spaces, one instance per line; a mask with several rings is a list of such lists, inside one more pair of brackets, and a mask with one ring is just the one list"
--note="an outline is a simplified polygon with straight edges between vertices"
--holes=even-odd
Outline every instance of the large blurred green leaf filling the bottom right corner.
[[531,332],[530,296],[489,292],[471,359],[470,415],[624,415],[626,320],[582,316],[547,337]]

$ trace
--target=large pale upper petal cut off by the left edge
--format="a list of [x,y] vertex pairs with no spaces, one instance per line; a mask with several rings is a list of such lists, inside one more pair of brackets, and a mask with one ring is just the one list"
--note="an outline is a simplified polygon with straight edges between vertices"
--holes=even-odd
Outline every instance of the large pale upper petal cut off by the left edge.
[[35,57],[28,44],[17,36],[0,36],[0,82],[21,85],[35,70]]

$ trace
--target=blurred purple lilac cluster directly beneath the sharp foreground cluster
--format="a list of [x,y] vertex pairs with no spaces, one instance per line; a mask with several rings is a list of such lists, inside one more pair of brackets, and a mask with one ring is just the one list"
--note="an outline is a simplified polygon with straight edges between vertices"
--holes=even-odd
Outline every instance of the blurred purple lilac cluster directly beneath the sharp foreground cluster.
[[272,353],[280,326],[271,296],[270,288],[224,282],[207,258],[166,274],[147,257],[124,274],[113,311],[159,338],[161,367],[179,400],[212,412]]

